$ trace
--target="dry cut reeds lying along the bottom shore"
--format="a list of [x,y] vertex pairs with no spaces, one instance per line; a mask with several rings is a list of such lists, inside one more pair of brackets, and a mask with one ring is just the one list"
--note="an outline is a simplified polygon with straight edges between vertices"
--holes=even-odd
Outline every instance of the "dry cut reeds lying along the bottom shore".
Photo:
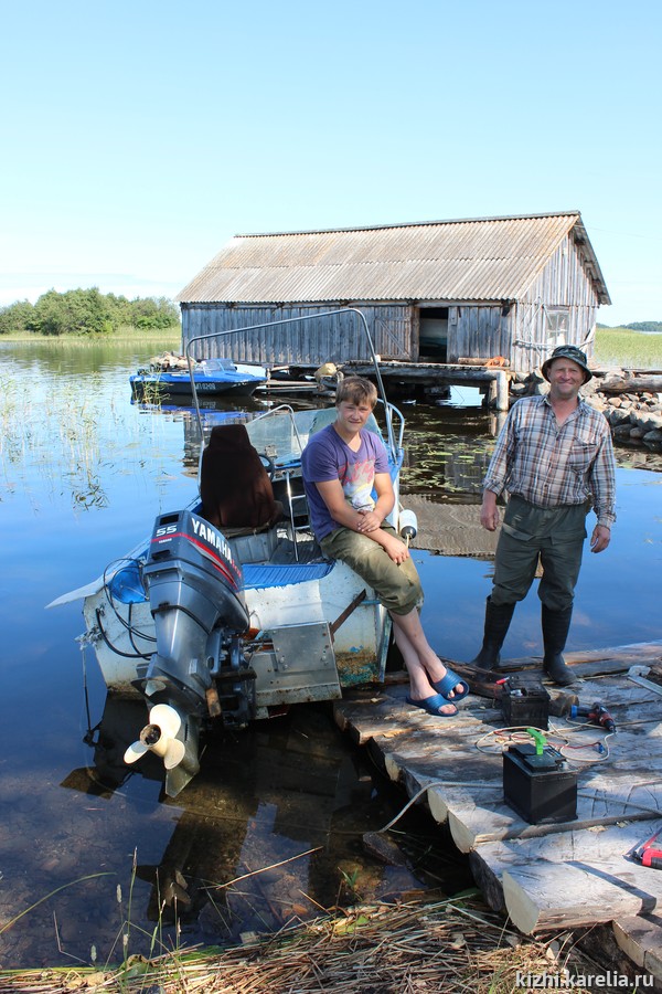
[[521,974],[604,972],[573,944],[523,939],[473,896],[333,910],[232,948],[182,948],[117,966],[0,970],[0,990],[71,994],[511,994]]

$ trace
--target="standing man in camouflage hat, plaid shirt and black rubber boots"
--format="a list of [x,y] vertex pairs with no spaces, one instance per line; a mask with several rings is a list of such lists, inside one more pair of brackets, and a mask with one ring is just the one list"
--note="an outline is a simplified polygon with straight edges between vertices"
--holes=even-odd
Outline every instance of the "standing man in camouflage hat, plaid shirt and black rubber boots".
[[616,467],[611,430],[605,416],[579,398],[592,373],[585,353],[559,346],[543,363],[546,396],[528,396],[511,409],[483,480],[480,522],[499,524],[496,497],[509,499],[496,544],[492,593],[487,601],[482,647],[476,666],[491,669],[508,633],[517,601],[533,583],[538,557],[538,586],[545,656],[543,668],[562,686],[573,683],[563,658],[575,585],[592,506],[597,525],[591,552],[609,544],[616,520]]

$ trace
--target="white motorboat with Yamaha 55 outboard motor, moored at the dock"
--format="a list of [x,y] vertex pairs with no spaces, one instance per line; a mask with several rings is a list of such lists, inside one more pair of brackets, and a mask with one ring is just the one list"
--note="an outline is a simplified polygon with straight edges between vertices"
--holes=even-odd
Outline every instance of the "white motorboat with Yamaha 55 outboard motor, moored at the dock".
[[[396,495],[389,521],[410,537],[416,520],[399,503],[404,417],[386,400],[365,317],[343,308],[320,318],[348,311],[373,357],[381,402],[366,427],[388,453]],[[277,334],[287,324],[258,327]],[[108,694],[146,707],[124,760],[159,757],[170,796],[197,772],[201,737],[214,723],[242,729],[295,704],[383,683],[392,634],[374,591],[327,559],[310,527],[301,453],[335,408],[281,404],[210,425],[196,390],[192,382],[201,454],[190,504],[159,515],[137,548],[49,605],[83,600],[82,641],[94,648]],[[258,491],[267,509],[256,519],[249,512]]]

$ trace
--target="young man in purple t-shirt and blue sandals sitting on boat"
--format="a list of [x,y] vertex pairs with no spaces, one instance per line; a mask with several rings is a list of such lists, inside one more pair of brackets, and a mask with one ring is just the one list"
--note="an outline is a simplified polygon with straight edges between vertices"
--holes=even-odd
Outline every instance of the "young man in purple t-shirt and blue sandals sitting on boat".
[[335,421],[310,437],[301,457],[310,520],[324,554],[346,562],[391,614],[409,674],[407,704],[447,718],[457,715],[455,704],[469,685],[430,647],[418,614],[423,591],[416,567],[385,521],[395,504],[388,456],[382,440],[365,429],[376,402],[370,380],[348,377],[338,384]]

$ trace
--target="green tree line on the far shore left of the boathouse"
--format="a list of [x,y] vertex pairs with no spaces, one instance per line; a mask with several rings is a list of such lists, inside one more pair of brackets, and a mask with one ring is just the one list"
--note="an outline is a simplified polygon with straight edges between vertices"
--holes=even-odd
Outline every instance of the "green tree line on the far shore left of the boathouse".
[[127,297],[92,289],[49,290],[35,304],[19,300],[0,308],[0,335],[111,335],[132,326],[164,330],[179,325],[179,309],[166,297]]

